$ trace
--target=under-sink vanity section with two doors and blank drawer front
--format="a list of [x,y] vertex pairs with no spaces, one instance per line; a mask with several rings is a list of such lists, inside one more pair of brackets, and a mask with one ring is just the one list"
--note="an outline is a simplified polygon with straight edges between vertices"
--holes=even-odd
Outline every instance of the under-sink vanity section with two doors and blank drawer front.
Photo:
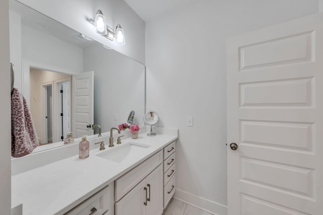
[[163,151],[115,181],[116,215],[163,213]]

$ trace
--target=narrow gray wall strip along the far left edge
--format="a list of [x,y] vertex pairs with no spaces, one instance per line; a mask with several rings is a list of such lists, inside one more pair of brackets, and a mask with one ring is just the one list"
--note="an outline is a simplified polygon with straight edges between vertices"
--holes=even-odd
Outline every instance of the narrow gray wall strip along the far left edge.
[[9,65],[9,3],[0,2],[0,214],[11,213],[11,110]]

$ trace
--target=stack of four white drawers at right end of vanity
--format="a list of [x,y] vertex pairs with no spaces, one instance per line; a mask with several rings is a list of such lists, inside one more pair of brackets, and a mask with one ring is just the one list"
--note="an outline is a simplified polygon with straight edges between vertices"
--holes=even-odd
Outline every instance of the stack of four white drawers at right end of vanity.
[[164,148],[164,208],[168,205],[176,189],[176,141]]

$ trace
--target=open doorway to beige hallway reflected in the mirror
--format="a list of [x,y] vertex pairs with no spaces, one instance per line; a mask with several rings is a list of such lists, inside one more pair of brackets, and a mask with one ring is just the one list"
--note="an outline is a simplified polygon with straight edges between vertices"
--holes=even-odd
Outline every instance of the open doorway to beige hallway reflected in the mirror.
[[39,144],[63,141],[71,131],[71,75],[30,67],[30,112]]

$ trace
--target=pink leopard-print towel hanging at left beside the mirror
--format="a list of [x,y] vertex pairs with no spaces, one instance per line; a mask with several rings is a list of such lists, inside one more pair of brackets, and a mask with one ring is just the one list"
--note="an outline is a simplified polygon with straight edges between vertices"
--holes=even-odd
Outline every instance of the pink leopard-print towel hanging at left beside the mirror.
[[11,96],[11,155],[19,158],[39,146],[26,99],[14,88]]

